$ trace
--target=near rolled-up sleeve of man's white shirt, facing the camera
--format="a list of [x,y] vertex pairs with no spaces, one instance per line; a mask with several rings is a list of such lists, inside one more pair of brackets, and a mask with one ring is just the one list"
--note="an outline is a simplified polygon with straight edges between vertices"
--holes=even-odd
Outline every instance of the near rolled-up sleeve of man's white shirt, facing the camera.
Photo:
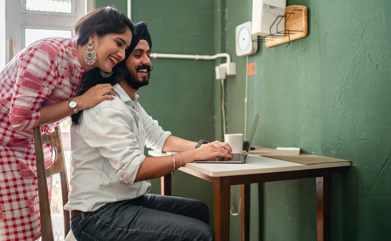
[[129,123],[133,118],[117,107],[93,108],[87,112],[83,113],[83,119],[88,121],[84,123],[84,141],[108,159],[122,182],[133,184],[145,159]]

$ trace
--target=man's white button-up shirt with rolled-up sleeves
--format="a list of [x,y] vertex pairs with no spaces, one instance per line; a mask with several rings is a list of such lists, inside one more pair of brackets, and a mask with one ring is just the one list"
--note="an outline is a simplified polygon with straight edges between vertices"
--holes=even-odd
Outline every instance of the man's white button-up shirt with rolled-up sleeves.
[[135,182],[145,159],[144,146],[161,151],[171,135],[121,86],[117,97],[81,113],[71,127],[72,179],[67,210],[95,211],[110,202],[144,195],[151,182]]

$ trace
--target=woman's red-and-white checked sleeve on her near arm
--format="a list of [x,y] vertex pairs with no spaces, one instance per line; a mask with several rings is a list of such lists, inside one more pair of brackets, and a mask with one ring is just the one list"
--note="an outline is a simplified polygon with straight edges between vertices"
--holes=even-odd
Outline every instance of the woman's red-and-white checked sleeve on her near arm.
[[52,46],[39,44],[20,55],[16,68],[9,120],[18,131],[38,124],[39,108],[57,86],[58,53]]

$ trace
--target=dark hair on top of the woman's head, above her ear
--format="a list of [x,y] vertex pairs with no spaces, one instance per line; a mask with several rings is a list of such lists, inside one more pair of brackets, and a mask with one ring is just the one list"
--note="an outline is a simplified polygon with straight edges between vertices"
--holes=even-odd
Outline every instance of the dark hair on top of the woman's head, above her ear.
[[99,37],[107,34],[123,34],[129,28],[132,35],[135,32],[135,25],[122,12],[115,7],[100,7],[81,17],[74,26],[74,33],[78,45],[88,42],[88,36],[94,30]]

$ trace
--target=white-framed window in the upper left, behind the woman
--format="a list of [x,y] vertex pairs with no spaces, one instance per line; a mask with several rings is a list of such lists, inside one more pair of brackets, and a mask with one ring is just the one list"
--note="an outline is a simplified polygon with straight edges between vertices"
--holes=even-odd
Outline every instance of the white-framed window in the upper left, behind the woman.
[[74,37],[73,26],[85,14],[86,1],[92,0],[5,1],[5,64],[32,41]]

